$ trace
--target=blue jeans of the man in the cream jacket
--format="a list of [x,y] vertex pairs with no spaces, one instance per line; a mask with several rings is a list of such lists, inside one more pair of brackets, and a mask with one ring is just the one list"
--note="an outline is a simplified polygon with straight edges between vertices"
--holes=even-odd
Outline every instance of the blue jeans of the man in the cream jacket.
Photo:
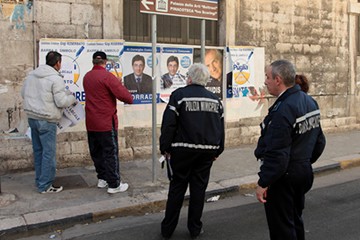
[[29,118],[34,151],[35,184],[39,192],[47,190],[55,179],[56,123]]

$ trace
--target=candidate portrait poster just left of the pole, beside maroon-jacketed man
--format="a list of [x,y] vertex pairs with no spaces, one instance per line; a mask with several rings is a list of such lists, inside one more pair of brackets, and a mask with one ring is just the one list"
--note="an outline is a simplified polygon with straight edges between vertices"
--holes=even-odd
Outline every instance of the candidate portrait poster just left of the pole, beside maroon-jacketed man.
[[[160,48],[156,48],[155,68],[159,64]],[[126,43],[121,57],[123,84],[132,94],[134,104],[152,103],[152,47]],[[156,94],[157,102],[159,94]]]

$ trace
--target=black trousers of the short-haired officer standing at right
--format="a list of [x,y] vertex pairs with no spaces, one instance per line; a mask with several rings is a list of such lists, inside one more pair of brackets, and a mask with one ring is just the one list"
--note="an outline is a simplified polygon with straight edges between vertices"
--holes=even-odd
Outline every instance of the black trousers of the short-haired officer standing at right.
[[313,184],[310,162],[291,163],[288,172],[270,185],[265,203],[271,240],[304,240],[302,211]]

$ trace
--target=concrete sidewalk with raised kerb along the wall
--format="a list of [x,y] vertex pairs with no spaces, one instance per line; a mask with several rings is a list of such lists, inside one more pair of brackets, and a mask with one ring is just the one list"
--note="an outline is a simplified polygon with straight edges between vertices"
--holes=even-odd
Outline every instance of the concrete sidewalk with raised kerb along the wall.
[[[314,171],[342,169],[360,165],[360,131],[326,134],[327,146],[314,164]],[[258,179],[255,145],[226,149],[214,163],[208,197],[240,188],[254,187]],[[34,229],[91,222],[116,216],[145,214],[164,209],[168,180],[165,169],[156,162],[156,181],[152,181],[152,160],[122,162],[121,175],[130,187],[127,192],[110,195],[96,187],[92,166],[57,171],[58,194],[39,194],[34,172],[1,177],[0,239]]]

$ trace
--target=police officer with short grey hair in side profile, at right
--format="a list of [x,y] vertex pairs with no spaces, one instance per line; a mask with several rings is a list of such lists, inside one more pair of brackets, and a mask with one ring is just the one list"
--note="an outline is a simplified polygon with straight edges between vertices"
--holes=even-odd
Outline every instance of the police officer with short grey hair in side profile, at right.
[[314,179],[311,164],[325,148],[318,104],[295,84],[295,75],[287,60],[266,68],[265,85],[277,99],[255,150],[261,165],[256,196],[265,205],[272,240],[305,239],[302,211]]

